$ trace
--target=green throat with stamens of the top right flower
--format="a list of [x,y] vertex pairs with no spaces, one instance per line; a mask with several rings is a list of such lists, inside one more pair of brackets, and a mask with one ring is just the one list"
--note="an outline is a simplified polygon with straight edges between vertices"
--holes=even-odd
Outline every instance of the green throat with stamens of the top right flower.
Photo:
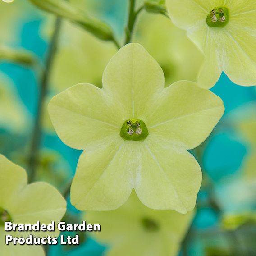
[[210,11],[206,18],[206,23],[210,27],[225,27],[229,22],[229,9],[217,7]]

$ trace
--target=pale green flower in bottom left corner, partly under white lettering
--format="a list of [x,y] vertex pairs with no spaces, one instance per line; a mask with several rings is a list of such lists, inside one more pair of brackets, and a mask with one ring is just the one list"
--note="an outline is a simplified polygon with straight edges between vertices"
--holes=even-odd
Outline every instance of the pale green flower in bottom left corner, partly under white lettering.
[[41,246],[5,245],[5,235],[27,238],[30,234],[35,237],[57,237],[58,229],[54,232],[5,232],[4,222],[16,224],[49,224],[58,223],[66,211],[66,202],[59,192],[43,182],[27,185],[27,174],[18,165],[0,155],[0,255],[4,256],[41,256],[44,251]]

